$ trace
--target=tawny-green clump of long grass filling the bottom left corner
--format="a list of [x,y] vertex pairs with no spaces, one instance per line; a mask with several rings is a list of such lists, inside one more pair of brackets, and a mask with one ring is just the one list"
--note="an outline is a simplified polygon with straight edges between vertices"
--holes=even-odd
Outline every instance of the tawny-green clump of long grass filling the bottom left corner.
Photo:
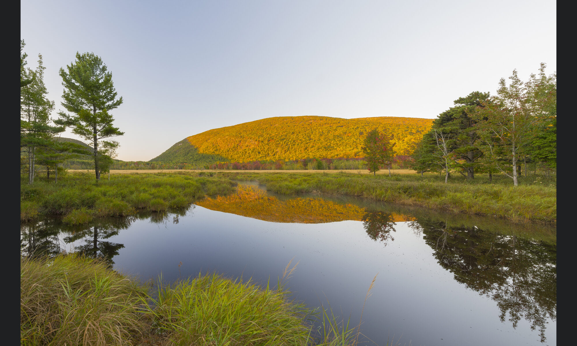
[[20,261],[21,345],[132,345],[146,291],[101,261]]

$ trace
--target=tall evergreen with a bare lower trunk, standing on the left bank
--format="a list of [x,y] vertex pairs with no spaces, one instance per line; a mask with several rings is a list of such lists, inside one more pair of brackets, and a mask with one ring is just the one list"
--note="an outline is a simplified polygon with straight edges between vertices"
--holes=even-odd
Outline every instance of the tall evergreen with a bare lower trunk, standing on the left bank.
[[76,53],[76,61],[60,69],[65,87],[62,106],[74,115],[59,112],[55,123],[70,127],[91,142],[96,179],[100,179],[99,140],[124,133],[113,126],[114,118],[108,111],[122,104],[122,97],[114,89],[112,73],[102,59],[93,53]]

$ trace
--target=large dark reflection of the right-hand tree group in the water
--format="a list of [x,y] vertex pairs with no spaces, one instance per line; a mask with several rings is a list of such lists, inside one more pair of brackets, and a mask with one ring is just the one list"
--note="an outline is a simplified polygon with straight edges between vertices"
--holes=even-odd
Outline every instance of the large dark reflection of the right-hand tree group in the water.
[[502,322],[508,315],[516,328],[524,318],[545,342],[547,318],[557,318],[554,245],[424,218],[411,226],[420,228],[434,257],[455,280],[497,302]]

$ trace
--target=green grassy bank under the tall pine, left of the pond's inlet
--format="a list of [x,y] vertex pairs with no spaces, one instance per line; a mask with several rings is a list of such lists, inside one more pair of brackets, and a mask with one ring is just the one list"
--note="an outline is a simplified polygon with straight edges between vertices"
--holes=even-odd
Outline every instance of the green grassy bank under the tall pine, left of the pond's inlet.
[[58,183],[37,181],[20,185],[20,220],[39,214],[63,215],[70,224],[93,217],[126,216],[137,210],[164,212],[185,208],[204,195],[228,194],[235,183],[226,178],[190,174],[113,175],[96,182],[91,173],[78,172]]

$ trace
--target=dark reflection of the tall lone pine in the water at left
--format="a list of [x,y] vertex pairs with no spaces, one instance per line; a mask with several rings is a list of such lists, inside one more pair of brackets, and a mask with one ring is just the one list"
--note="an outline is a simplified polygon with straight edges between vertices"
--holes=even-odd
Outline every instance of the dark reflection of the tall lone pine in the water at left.
[[118,255],[118,250],[122,249],[124,245],[102,239],[108,239],[117,235],[121,230],[126,230],[132,221],[132,217],[99,220],[98,224],[73,229],[72,235],[66,236],[64,241],[72,243],[84,238],[85,243],[74,247],[74,250],[90,257],[102,258],[112,266],[114,264],[112,258]]

